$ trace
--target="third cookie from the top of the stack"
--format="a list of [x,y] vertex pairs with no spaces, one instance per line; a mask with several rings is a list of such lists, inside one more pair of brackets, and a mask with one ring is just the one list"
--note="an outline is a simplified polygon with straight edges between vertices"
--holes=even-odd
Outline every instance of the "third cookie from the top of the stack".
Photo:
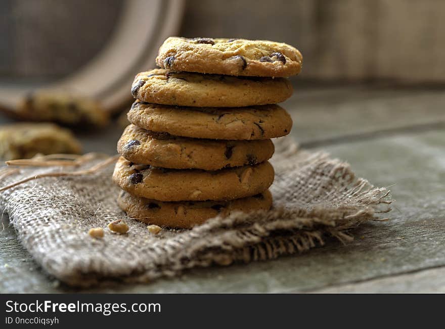
[[292,127],[290,115],[278,105],[193,108],[136,101],[128,120],[155,132],[211,139],[270,139],[287,135]]

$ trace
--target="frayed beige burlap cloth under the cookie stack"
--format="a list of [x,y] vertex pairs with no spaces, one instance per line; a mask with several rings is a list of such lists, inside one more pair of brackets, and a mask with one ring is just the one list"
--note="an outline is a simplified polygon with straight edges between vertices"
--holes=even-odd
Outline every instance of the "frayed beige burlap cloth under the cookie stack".
[[[82,165],[103,161],[97,157]],[[0,193],[18,238],[48,273],[73,286],[110,280],[150,281],[212,264],[248,263],[323,245],[325,236],[350,239],[345,230],[389,211],[389,191],[355,177],[346,163],[326,154],[297,149],[290,138],[276,143],[271,187],[274,208],[267,213],[214,218],[191,230],[164,228],[154,236],[147,225],[129,219],[115,200],[113,165],[94,174],[38,178]],[[79,170],[81,168],[71,168]],[[0,180],[5,186],[56,167],[22,167]],[[63,170],[67,170],[64,168]],[[110,232],[115,219],[127,234]],[[104,227],[102,240],[88,236]]]

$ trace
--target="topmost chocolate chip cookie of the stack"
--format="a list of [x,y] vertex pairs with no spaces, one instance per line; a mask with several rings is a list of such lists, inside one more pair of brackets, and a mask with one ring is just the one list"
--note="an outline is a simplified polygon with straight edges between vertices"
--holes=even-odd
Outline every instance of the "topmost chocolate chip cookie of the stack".
[[293,46],[267,40],[169,37],[156,64],[172,71],[288,77],[303,64]]

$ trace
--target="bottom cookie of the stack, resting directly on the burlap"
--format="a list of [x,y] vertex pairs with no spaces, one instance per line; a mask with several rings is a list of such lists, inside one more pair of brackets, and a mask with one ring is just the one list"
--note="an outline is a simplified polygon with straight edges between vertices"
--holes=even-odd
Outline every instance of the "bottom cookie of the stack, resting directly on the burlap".
[[272,207],[272,194],[265,191],[252,197],[230,201],[161,202],[135,197],[122,191],[117,203],[129,217],[143,223],[191,228],[209,218],[228,216],[234,211],[267,211]]

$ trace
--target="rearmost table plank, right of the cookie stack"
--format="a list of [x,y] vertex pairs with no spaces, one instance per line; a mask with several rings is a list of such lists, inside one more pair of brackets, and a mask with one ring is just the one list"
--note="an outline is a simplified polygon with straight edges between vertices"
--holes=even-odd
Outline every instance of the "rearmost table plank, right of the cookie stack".
[[[283,103],[299,143],[327,145],[329,139],[438,123],[445,125],[442,90],[366,85],[299,88]],[[389,131],[388,131],[389,130]]]

